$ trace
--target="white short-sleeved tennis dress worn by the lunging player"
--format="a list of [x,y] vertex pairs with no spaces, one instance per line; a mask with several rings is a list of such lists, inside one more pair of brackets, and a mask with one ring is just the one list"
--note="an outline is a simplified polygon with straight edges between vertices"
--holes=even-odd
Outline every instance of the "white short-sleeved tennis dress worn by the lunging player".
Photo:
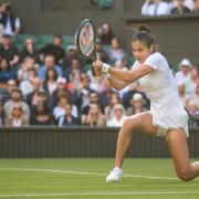
[[[135,62],[132,70],[139,66]],[[149,74],[139,78],[139,84],[150,98],[150,114],[153,125],[158,127],[159,136],[168,129],[184,128],[188,133],[188,114],[184,108],[178,94],[177,82],[169,69],[165,56],[158,52],[150,54],[143,64],[155,69]]]

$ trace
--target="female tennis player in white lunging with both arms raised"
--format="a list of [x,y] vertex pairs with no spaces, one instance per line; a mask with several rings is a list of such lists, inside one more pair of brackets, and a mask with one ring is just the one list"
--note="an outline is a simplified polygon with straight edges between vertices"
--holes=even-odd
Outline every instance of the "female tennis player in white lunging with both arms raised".
[[125,121],[118,134],[115,168],[106,181],[122,180],[124,157],[135,132],[165,136],[177,176],[185,181],[191,180],[199,176],[199,161],[189,161],[188,114],[167,60],[156,51],[156,39],[146,27],[140,27],[133,36],[132,51],[136,62],[130,71],[114,69],[100,60],[93,63],[96,74],[109,74],[109,83],[116,90],[138,80],[151,104],[149,112],[133,115]]

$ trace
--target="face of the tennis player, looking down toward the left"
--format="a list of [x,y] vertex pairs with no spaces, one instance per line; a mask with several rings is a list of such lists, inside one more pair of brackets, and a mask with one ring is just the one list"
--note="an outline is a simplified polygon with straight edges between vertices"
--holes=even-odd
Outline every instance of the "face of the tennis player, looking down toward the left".
[[151,53],[151,48],[148,48],[140,41],[134,41],[132,43],[132,52],[134,57],[139,62],[143,63]]

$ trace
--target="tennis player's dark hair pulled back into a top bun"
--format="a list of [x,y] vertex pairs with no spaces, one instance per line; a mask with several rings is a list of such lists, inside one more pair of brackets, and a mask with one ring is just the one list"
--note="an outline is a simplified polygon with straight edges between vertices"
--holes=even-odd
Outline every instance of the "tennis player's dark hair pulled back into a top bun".
[[156,43],[156,38],[151,34],[150,28],[146,25],[138,27],[136,33],[132,38],[132,42],[134,41],[139,41],[148,48],[153,46],[154,52],[158,51],[159,49]]

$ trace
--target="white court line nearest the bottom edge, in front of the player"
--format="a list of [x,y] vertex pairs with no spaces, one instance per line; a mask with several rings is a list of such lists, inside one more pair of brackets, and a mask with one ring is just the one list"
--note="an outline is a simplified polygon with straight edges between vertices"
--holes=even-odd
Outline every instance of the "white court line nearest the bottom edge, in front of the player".
[[0,198],[14,197],[65,197],[65,196],[145,196],[145,195],[199,195],[199,191],[132,191],[132,192],[63,192],[63,193],[34,193],[34,195],[0,195]]

